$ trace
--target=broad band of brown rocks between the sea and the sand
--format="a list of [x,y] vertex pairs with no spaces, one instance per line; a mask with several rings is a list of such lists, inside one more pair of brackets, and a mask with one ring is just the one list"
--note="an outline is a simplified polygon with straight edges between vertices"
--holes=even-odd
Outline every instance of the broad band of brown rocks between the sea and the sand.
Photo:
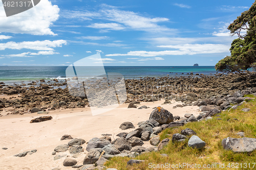
[[[97,89],[95,88],[95,91],[101,91],[106,86],[109,86],[104,79],[95,80],[93,83],[100,86]],[[58,86],[67,86],[67,82],[59,83],[57,79],[54,79],[47,83],[44,80],[40,80],[31,84],[34,86],[8,86],[4,82],[0,82],[0,94],[3,96],[2,99],[0,98],[0,114],[4,110],[6,110],[7,114],[25,114],[35,112],[33,108],[38,112],[59,108],[90,107],[87,96],[75,97],[70,95],[67,87],[57,88]],[[185,103],[177,105],[177,107],[198,105],[205,106],[202,107],[202,111],[209,111],[214,108],[224,110],[228,109],[230,104],[241,103],[244,100],[240,98],[242,95],[256,94],[256,77],[251,73],[247,78],[241,78],[237,74],[144,78],[140,80],[125,80],[125,88],[127,94],[125,103],[154,102],[164,99],[166,100],[165,104],[168,104],[169,100]],[[17,94],[18,96],[6,99],[9,95]],[[104,92],[100,94],[104,99],[106,94]],[[102,106],[104,105],[100,101],[96,105],[96,107]]]

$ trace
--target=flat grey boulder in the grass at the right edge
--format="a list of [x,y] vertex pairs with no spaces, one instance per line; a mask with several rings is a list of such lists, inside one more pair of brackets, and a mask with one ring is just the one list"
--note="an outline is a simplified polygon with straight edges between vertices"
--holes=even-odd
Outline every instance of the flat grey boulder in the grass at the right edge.
[[256,138],[232,138],[227,137],[221,142],[225,150],[233,152],[252,152],[256,149]]

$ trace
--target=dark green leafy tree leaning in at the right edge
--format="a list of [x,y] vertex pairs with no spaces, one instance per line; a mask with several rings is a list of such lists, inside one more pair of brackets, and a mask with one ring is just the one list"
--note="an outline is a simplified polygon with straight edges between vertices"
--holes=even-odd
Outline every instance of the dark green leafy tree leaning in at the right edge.
[[[230,33],[237,34],[230,47],[230,56],[220,60],[215,68],[223,72],[239,72],[256,66],[256,1],[249,10],[243,12],[227,28]],[[246,34],[242,35],[243,30]]]

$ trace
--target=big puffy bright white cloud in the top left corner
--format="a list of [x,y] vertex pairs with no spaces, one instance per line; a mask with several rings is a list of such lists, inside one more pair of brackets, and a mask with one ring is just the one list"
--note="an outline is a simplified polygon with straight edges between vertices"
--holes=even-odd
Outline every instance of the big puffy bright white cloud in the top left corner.
[[[0,16],[6,16],[0,3]],[[32,35],[55,35],[50,26],[59,17],[59,8],[48,0],[41,0],[38,5],[25,12],[10,17],[0,17],[0,32]]]

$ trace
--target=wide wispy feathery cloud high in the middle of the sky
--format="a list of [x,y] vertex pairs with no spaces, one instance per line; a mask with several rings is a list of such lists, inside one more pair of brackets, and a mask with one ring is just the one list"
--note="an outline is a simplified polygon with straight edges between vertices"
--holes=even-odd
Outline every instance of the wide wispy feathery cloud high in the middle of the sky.
[[[169,21],[168,18],[163,17],[147,17],[140,13],[132,11],[119,10],[114,7],[104,8],[98,12],[90,11],[66,11],[66,18],[77,18],[77,19],[101,19],[103,21],[99,23],[92,23],[87,26],[90,28],[100,29],[101,32],[109,30],[126,30],[132,29],[137,31],[146,32],[166,32],[177,31],[176,29],[169,29],[165,26],[159,26],[158,22]],[[111,9],[110,9],[111,8]],[[107,20],[107,21],[106,21]],[[108,21],[111,21],[110,23]],[[173,32],[172,32],[173,33]],[[173,33],[174,34],[174,33]]]

